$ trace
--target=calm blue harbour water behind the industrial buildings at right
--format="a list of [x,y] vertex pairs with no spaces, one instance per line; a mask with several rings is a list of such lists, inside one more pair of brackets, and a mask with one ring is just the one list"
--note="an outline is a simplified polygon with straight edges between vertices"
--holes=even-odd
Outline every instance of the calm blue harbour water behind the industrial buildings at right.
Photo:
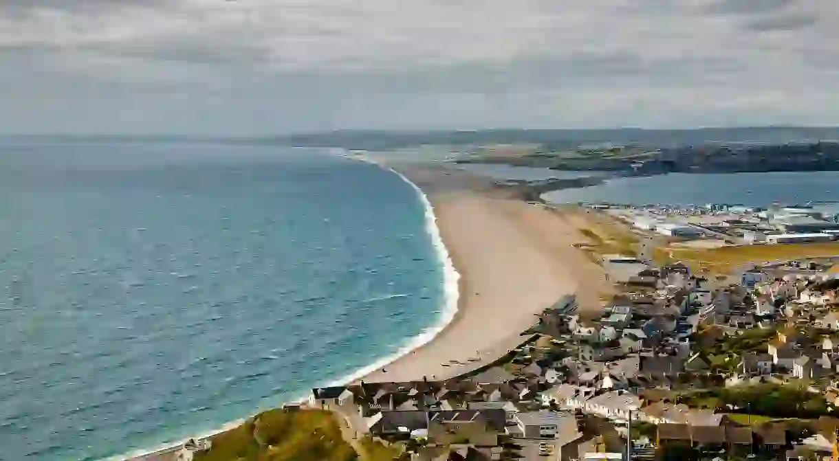
[[581,189],[544,194],[555,203],[608,202],[626,205],[742,204],[769,206],[839,200],[839,172],[664,174],[609,179]]

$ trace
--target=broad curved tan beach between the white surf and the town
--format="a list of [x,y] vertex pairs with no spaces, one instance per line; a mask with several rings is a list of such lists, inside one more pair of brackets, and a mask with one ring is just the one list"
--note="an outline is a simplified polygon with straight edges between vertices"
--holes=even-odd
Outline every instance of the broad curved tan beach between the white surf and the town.
[[[482,362],[516,344],[535,314],[576,294],[582,311],[600,310],[601,267],[573,246],[586,241],[575,223],[541,205],[427,168],[401,168],[432,203],[440,236],[460,273],[455,319],[428,344],[363,379],[409,381],[455,376],[450,360]],[[460,184],[461,187],[457,187]]]

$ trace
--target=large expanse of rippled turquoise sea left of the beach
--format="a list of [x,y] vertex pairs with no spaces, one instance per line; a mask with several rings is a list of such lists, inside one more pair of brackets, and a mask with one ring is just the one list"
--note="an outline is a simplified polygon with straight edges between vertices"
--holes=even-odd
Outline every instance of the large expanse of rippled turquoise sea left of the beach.
[[154,448],[393,354],[445,301],[424,213],[314,150],[0,144],[0,458]]

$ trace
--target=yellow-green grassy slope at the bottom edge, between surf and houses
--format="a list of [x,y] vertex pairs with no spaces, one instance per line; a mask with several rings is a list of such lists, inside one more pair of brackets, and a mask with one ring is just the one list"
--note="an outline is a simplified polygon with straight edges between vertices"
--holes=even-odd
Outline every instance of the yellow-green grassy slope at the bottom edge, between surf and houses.
[[[199,461],[355,461],[331,412],[271,410],[212,438]],[[373,460],[378,461],[378,460]]]

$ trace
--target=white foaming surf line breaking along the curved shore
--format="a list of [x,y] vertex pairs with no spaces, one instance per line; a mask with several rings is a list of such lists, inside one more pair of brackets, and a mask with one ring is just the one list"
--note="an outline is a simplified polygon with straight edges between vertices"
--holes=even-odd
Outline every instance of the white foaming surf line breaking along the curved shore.
[[[402,179],[405,183],[409,184],[411,188],[414,189],[420,202],[423,205],[425,210],[425,231],[428,232],[429,236],[431,237],[432,245],[435,248],[436,256],[443,267],[443,294],[444,294],[444,306],[440,311],[440,316],[436,320],[434,324],[430,327],[424,329],[420,334],[409,338],[406,343],[399,348],[396,352],[391,355],[387,355],[382,359],[376,360],[371,365],[367,365],[359,370],[355,370],[347,376],[344,376],[340,379],[335,381],[330,381],[326,384],[318,384],[312,387],[323,387],[323,386],[343,386],[345,384],[351,383],[353,381],[358,381],[362,377],[369,375],[375,370],[382,368],[383,366],[387,366],[388,364],[393,363],[395,360],[403,357],[404,355],[410,354],[412,350],[416,350],[422,347],[425,344],[431,342],[432,339],[435,339],[437,334],[446,329],[446,327],[451,324],[451,321],[455,318],[457,313],[457,303],[460,298],[460,278],[461,275],[459,272],[456,271],[454,263],[451,261],[451,256],[449,254],[449,250],[446,248],[446,245],[443,243],[443,239],[440,236],[440,228],[437,227],[437,216],[434,213],[434,206],[431,205],[428,196],[425,195],[425,192],[420,189],[420,187],[414,184],[410,179],[406,178],[404,174],[399,173],[398,171],[394,170],[393,168],[385,167],[371,158],[364,157],[362,154],[359,153],[348,153],[347,151],[341,149],[335,149],[331,153],[337,154],[344,158],[351,158],[353,160],[362,161],[365,163],[370,163],[378,168],[382,168],[384,171],[388,171],[390,173],[396,174],[399,176],[399,179]],[[377,301],[383,300],[388,298],[400,298],[400,297],[407,297],[407,294],[392,294],[387,295],[384,297],[379,298],[370,298],[367,301]],[[311,301],[309,300],[301,300],[301,302]],[[310,390],[305,389],[300,391],[299,396],[294,396],[289,398],[286,403],[290,402],[302,402],[308,398]],[[223,433],[225,431],[229,431],[234,427],[239,426],[243,422],[247,421],[248,417],[243,417],[241,419],[237,419],[236,421],[227,422],[221,427],[216,427],[215,429],[207,430],[206,432],[201,433],[200,435],[195,435],[192,437],[183,438],[176,443],[160,443],[156,448],[151,450],[149,449],[138,449],[131,453],[122,454],[119,456],[114,456],[111,458],[106,458],[104,461],[123,461],[125,459],[131,458],[139,458],[139,457],[147,457],[149,455],[165,453],[173,450],[173,448],[180,447],[183,443],[185,443],[190,438],[194,438],[195,440],[201,440],[203,438],[211,438],[212,436]]]

